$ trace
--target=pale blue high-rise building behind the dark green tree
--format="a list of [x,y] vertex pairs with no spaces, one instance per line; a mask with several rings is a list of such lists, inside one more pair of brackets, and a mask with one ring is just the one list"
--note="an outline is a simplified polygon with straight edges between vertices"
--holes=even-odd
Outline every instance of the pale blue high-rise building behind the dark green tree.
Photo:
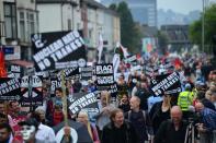
[[157,26],[157,0],[101,0],[101,3],[109,7],[112,3],[122,1],[128,4],[135,22]]

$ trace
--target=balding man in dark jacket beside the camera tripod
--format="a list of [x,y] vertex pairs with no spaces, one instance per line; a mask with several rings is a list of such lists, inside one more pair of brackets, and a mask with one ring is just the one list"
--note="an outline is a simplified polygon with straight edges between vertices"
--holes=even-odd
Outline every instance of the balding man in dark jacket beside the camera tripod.
[[171,120],[166,120],[160,124],[154,143],[184,143],[186,123],[182,120],[181,108],[173,106],[170,116]]

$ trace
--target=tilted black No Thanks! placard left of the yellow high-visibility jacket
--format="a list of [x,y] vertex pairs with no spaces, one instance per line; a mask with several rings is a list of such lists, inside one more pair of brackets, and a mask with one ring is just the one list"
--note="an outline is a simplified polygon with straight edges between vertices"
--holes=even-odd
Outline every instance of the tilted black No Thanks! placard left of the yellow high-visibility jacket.
[[155,96],[164,94],[179,94],[181,92],[180,76],[177,72],[158,75],[151,80],[151,91]]

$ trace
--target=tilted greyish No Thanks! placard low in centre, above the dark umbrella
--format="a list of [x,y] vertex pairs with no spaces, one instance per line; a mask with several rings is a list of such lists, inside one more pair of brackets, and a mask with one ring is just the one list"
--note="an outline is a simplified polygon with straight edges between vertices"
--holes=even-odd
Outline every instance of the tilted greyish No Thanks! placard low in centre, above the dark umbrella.
[[78,114],[81,109],[88,112],[99,114],[98,95],[95,93],[76,93],[68,97],[69,110],[72,115]]

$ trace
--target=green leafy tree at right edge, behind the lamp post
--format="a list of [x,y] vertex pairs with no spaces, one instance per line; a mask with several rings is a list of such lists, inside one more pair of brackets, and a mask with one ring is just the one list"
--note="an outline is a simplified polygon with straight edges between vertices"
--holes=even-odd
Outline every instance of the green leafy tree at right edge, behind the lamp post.
[[[203,20],[203,14],[198,21],[190,25],[190,38],[194,44],[200,45],[200,47],[202,44],[202,20]],[[212,49],[216,48],[215,25],[216,25],[216,4],[212,4],[209,8],[206,9],[204,14],[205,51],[212,51]]]

